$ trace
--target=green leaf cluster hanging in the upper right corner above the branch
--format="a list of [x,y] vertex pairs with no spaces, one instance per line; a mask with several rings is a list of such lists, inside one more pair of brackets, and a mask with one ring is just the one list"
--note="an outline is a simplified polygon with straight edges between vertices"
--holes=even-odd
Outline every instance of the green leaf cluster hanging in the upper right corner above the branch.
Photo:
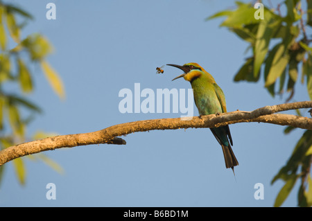
[[[312,98],[312,56],[305,26],[312,26],[312,3],[308,1],[306,12],[300,0],[282,2],[287,13],[282,16],[278,9],[263,7],[263,18],[256,19],[257,8],[251,3],[236,2],[236,10],[218,12],[209,19],[226,17],[220,26],[248,43],[252,56],[234,77],[234,81],[258,82],[263,75],[264,86],[275,96],[285,91],[294,93],[295,83],[299,80],[299,66],[303,65],[301,82],[306,80],[310,98]],[[279,5],[281,6],[281,5]],[[256,14],[256,15],[255,15]]]

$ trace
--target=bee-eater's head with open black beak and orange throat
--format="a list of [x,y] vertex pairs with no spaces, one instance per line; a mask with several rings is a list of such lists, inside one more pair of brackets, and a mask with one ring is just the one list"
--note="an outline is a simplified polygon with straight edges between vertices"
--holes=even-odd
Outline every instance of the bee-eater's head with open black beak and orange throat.
[[204,69],[202,69],[202,67],[200,67],[199,64],[194,63],[194,62],[184,64],[183,66],[180,66],[177,64],[167,64],[167,65],[172,66],[172,67],[176,67],[176,68],[184,71],[184,73],[182,73],[182,75],[177,76],[176,78],[173,78],[173,80],[183,77],[185,80],[191,82],[195,78],[199,78],[202,75],[202,73],[204,73],[204,71],[205,71]]

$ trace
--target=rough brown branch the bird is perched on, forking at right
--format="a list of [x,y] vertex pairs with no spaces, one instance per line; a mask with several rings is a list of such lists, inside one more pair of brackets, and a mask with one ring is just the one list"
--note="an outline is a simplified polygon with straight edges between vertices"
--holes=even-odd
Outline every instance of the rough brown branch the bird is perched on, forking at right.
[[195,116],[191,119],[163,118],[146,121],[135,121],[113,125],[103,130],[84,134],[69,134],[48,137],[28,143],[13,145],[0,151],[0,166],[12,159],[23,157],[28,154],[35,154],[46,150],[57,148],[72,148],[79,145],[90,145],[98,143],[125,144],[125,141],[116,136],[123,136],[134,132],[145,132],[149,130],[176,130],[180,128],[203,128],[220,127],[223,125],[259,122],[272,123],[277,125],[290,125],[306,130],[312,130],[312,119],[291,114],[275,114],[290,109],[312,108],[312,101],[302,101],[297,103],[287,103],[273,105],[255,109],[252,112],[227,112],[210,114],[206,116]]

